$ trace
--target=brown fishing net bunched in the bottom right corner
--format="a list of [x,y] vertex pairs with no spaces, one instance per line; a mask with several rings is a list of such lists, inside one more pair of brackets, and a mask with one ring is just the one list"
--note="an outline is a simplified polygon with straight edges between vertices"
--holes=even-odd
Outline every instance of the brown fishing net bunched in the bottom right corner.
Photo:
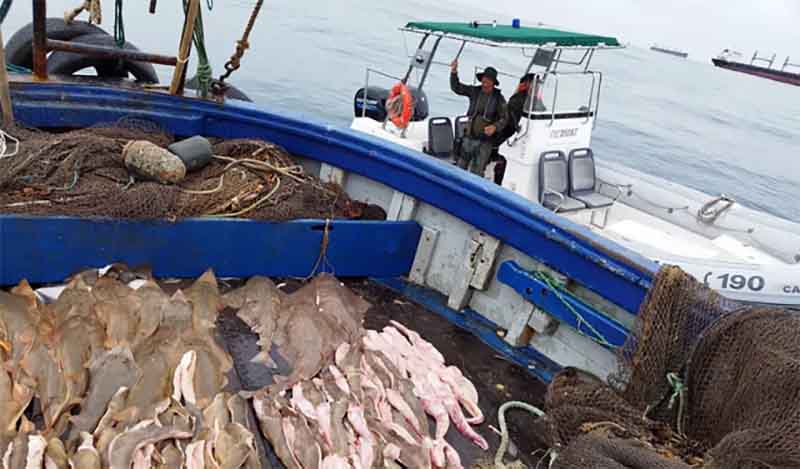
[[800,467],[797,313],[662,269],[611,384],[575,369],[550,384],[551,467]]

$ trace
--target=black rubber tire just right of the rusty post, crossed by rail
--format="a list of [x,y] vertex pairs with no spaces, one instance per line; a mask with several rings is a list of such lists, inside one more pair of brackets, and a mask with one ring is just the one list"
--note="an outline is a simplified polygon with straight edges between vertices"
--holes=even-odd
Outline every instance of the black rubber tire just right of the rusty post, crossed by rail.
[[[108,34],[86,34],[72,39],[72,42],[90,44],[93,46],[116,47],[114,38]],[[125,50],[138,51],[139,49],[126,42]],[[139,83],[158,83],[158,75],[152,64],[146,62],[122,61],[119,68],[116,59],[100,59],[75,52],[55,51],[47,58],[47,73],[53,75],[74,75],[76,72],[94,68],[100,78],[127,78],[132,75]]]

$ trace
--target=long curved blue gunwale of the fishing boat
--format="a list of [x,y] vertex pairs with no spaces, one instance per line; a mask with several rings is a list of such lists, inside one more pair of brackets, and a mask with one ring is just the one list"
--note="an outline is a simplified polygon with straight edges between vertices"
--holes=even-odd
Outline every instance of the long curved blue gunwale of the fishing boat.
[[84,127],[135,116],[177,135],[270,140],[291,153],[361,174],[449,212],[634,314],[659,268],[488,180],[313,118],[277,114],[249,103],[219,105],[83,83],[16,82],[12,96],[15,114],[31,126]]

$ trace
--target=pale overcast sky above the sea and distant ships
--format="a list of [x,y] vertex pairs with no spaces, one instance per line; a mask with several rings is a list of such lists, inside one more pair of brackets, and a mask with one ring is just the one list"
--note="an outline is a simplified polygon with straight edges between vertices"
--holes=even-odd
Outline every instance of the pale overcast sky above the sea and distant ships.
[[[798,0],[450,0],[487,11],[487,18],[510,21],[519,17],[580,32],[615,35],[640,46],[658,43],[707,61],[722,49],[745,55],[777,53],[800,62],[800,1]],[[472,18],[471,18],[472,19]]]

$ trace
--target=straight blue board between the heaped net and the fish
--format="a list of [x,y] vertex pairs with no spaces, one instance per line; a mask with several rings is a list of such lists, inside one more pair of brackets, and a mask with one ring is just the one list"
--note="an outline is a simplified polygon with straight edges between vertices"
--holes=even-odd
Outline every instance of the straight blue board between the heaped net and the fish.
[[194,278],[207,269],[219,277],[401,276],[421,232],[416,222],[391,221],[0,216],[0,285],[61,282],[114,262],[146,265],[156,277]]

